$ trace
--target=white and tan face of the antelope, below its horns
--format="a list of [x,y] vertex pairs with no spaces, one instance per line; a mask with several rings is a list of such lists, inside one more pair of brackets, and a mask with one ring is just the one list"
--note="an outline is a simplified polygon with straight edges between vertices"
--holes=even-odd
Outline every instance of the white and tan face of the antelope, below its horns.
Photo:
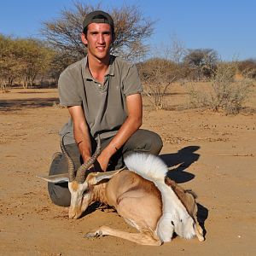
[[79,218],[90,205],[91,190],[86,181],[84,183],[70,182],[68,189],[71,193],[68,216],[69,218]]

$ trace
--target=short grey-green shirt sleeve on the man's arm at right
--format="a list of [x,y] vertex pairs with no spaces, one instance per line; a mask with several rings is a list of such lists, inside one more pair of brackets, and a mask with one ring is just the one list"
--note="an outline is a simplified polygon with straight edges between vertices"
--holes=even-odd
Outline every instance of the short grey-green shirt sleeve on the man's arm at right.
[[125,96],[141,93],[143,91],[143,85],[135,65],[130,65],[128,68],[128,72],[123,81],[123,91]]

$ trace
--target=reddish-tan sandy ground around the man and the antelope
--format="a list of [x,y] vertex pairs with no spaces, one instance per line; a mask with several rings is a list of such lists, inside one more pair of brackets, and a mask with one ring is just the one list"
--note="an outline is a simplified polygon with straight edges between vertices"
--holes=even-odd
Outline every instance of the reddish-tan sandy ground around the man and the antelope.
[[[161,247],[139,246],[104,236],[86,240],[102,224],[131,230],[116,212],[91,209],[78,220],[49,200],[47,174],[59,151],[58,131],[67,121],[56,90],[11,90],[0,94],[1,255],[256,255],[255,113],[181,110],[182,89],[168,96],[170,111],[153,111],[145,101],[143,128],[164,141],[160,157],[169,176],[193,189],[206,241],[176,237]],[[256,108],[255,94],[248,104]]]

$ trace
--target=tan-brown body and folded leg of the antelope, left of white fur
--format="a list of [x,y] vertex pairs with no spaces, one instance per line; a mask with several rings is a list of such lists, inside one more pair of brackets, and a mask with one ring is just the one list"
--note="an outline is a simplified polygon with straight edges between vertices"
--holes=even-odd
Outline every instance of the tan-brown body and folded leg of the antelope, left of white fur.
[[89,232],[86,237],[118,236],[139,244],[160,246],[160,238],[154,230],[162,215],[162,201],[160,190],[153,182],[134,172],[122,171],[107,183],[94,185],[92,194],[93,201],[106,200],[107,204],[115,207],[119,215],[134,225],[139,233],[113,230],[103,226]]

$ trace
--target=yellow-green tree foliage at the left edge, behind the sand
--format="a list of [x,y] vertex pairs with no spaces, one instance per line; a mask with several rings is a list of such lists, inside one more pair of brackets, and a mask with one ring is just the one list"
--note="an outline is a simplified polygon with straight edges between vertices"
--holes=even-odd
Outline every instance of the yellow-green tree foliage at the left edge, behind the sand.
[[37,75],[49,71],[55,52],[34,39],[0,37],[0,83],[6,90],[14,82],[24,88]]

